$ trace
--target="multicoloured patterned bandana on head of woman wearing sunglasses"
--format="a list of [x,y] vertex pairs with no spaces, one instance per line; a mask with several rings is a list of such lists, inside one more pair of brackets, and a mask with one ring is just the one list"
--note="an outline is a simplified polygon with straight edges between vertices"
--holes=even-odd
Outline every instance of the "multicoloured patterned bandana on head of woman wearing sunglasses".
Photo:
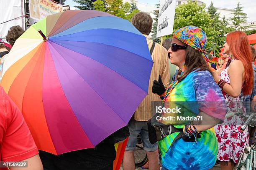
[[207,62],[209,61],[207,55],[204,53],[207,44],[207,36],[201,28],[194,26],[182,27],[174,32],[173,37],[202,52],[205,60]]

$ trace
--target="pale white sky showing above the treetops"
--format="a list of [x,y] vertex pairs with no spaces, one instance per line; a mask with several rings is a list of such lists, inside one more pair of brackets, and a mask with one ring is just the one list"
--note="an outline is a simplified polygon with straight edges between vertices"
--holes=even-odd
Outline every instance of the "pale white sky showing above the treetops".
[[[209,6],[211,1],[215,7],[222,7],[228,9],[234,9],[237,3],[240,1],[243,6],[243,12],[247,14],[248,19],[247,22],[256,21],[256,0],[200,0],[206,3],[206,6]],[[138,0],[140,3],[145,3],[149,5],[155,5],[159,3],[159,0]],[[76,2],[72,0],[66,0],[66,5],[73,7],[77,5]]]

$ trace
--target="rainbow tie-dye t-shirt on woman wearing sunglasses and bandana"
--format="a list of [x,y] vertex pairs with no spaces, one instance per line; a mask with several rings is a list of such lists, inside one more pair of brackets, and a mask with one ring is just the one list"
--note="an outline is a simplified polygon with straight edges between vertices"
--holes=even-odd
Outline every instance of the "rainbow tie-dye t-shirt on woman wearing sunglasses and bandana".
[[[224,120],[227,111],[220,87],[214,82],[208,71],[189,73],[167,97],[164,107],[168,108],[169,103],[177,101],[200,102],[198,105],[186,107],[192,115],[204,112],[219,120]],[[162,117],[164,116],[162,114]],[[177,128],[183,128],[184,124],[187,124],[187,122],[171,120],[163,123],[175,125]],[[213,128],[203,131],[197,143],[185,142],[180,138],[170,148],[178,134],[178,132],[172,133],[159,141],[164,168],[168,170],[208,170],[214,166],[218,145]]]

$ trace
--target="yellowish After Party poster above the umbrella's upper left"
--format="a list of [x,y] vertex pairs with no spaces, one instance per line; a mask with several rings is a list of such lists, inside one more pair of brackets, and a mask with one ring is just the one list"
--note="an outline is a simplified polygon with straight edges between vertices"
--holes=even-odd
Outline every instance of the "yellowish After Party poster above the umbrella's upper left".
[[29,0],[30,18],[41,20],[47,15],[60,13],[62,5],[51,0]]

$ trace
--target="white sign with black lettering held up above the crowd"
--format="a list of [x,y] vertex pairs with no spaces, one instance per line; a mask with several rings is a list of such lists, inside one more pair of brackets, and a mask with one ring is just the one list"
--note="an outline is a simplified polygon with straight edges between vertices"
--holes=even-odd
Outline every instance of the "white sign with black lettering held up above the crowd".
[[156,37],[172,34],[176,0],[160,0]]

